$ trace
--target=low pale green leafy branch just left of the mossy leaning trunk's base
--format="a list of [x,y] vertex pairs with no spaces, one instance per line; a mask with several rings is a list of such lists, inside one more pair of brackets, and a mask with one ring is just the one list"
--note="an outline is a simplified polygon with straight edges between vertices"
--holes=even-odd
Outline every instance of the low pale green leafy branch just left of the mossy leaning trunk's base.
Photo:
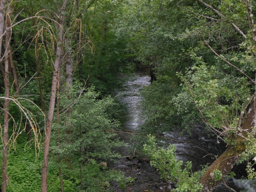
[[178,161],[175,155],[175,145],[167,149],[157,146],[155,137],[148,135],[144,144],[144,152],[151,159],[151,166],[159,170],[163,179],[176,183],[175,191],[199,192],[203,186],[199,182],[201,172],[191,173],[191,162],[187,162],[182,169],[183,161]]

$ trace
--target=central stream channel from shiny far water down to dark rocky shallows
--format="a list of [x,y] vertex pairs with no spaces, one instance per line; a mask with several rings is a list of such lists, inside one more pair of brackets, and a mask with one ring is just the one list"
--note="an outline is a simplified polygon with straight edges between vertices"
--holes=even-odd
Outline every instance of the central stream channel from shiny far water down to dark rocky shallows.
[[146,71],[134,73],[133,77],[127,77],[127,81],[122,88],[117,91],[117,99],[126,106],[126,113],[122,115],[121,127],[123,132],[119,134],[121,140],[128,143],[128,146],[120,147],[118,152],[124,156],[118,163],[110,164],[110,167],[121,170],[126,177],[132,177],[134,182],[126,184],[121,189],[119,183],[113,182],[114,191],[163,191],[170,188],[170,184],[160,179],[154,167],[145,159],[131,158],[129,153],[131,133],[136,132],[143,124],[140,90],[145,86],[150,86],[150,76]]

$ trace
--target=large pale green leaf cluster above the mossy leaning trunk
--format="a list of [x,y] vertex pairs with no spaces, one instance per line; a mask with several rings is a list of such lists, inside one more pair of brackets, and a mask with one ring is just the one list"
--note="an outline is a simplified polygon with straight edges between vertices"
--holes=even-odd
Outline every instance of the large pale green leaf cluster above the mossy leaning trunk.
[[187,71],[185,76],[180,75],[184,90],[191,95],[212,126],[221,130],[225,126],[228,131],[236,131],[241,125],[240,115],[243,115],[250,98],[247,79],[226,74],[218,66],[201,62]]

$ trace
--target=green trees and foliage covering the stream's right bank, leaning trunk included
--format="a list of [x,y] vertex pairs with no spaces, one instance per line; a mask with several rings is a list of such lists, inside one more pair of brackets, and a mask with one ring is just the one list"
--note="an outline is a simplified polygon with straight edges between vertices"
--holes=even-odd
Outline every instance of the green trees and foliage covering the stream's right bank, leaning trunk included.
[[[254,178],[254,161],[250,162],[255,156],[254,3],[135,4],[138,9],[130,14],[137,16],[135,26],[140,33],[136,35],[143,39],[137,46],[142,47],[138,58],[150,66],[155,80],[142,92],[146,120],[140,137],[154,134],[161,139],[163,133],[177,126],[189,131],[201,121],[216,134],[217,141],[224,140],[228,146],[201,177],[202,191],[212,191],[241,161],[249,163],[247,172]],[[156,161],[153,158],[152,162]],[[162,161],[162,166],[165,163],[170,162]],[[214,174],[221,178],[216,179]],[[193,190],[193,184],[190,188]]]

